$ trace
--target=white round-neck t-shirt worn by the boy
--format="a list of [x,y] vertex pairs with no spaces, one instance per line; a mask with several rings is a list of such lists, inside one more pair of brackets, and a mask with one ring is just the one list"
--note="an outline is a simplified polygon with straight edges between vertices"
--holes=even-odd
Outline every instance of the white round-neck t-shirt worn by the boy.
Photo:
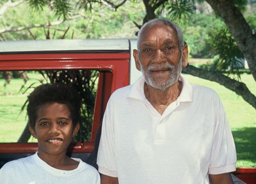
[[37,153],[6,163],[0,170],[0,184],[45,184],[45,183],[89,183],[100,184],[97,170],[79,158],[76,169],[64,171],[55,169],[38,157]]

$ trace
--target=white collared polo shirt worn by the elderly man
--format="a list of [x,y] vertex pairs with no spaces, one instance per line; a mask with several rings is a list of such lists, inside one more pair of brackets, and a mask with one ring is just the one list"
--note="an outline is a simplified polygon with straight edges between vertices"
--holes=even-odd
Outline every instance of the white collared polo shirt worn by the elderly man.
[[236,170],[236,148],[218,95],[189,84],[163,115],[144,95],[144,78],[111,95],[102,122],[99,172],[120,184],[209,183]]

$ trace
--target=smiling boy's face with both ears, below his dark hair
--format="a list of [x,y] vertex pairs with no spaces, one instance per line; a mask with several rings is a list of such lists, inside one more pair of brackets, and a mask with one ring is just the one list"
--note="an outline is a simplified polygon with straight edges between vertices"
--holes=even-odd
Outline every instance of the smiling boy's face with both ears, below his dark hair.
[[66,153],[79,124],[73,128],[67,105],[52,103],[39,107],[35,128],[29,127],[29,130],[38,139],[39,156],[44,157]]

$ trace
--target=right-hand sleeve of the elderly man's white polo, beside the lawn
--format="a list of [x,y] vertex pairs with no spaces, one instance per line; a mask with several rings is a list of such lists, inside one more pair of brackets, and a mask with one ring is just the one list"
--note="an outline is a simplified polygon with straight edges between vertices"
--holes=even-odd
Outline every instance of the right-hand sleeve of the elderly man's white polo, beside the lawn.
[[236,171],[236,148],[220,98],[216,99],[216,125],[212,140],[209,174]]

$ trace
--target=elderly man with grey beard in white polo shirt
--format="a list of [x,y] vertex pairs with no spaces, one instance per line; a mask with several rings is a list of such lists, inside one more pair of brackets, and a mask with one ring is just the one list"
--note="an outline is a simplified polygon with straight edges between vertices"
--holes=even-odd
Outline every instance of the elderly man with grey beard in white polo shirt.
[[115,91],[102,124],[101,183],[232,183],[236,149],[218,95],[180,74],[188,46],[179,26],[154,19],[141,27],[136,68]]

